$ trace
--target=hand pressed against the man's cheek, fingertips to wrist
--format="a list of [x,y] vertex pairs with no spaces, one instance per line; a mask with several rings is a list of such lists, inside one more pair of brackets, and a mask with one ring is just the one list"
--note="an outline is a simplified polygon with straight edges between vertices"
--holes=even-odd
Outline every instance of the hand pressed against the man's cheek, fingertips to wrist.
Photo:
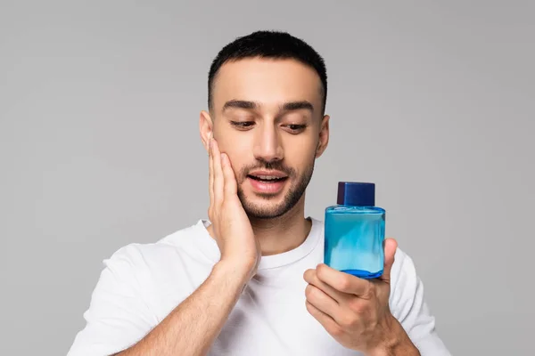
[[221,252],[220,263],[246,273],[248,281],[259,265],[259,242],[254,237],[249,217],[238,198],[237,182],[230,159],[219,151],[218,142],[213,137],[209,143],[209,161],[208,216]]

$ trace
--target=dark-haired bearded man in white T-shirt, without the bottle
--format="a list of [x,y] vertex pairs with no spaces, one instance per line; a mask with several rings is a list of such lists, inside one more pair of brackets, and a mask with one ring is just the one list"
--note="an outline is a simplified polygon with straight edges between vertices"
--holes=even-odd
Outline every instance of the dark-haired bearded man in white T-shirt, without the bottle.
[[323,262],[304,216],[329,141],[322,58],[287,33],[227,44],[200,116],[209,220],[105,261],[70,355],[449,355],[410,258],[379,279]]

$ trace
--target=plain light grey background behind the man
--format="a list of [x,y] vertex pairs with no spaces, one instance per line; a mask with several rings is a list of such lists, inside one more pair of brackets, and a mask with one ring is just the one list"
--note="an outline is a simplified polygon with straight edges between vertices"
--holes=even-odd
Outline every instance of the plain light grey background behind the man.
[[2,1],[0,354],[65,354],[102,261],[205,217],[210,61],[260,28],[325,56],[309,186],[377,183],[456,355],[532,354],[533,2]]

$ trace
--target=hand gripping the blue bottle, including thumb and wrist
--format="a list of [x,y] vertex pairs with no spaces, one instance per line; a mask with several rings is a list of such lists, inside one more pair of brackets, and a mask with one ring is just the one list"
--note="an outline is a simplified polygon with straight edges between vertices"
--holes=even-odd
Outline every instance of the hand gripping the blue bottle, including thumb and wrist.
[[419,354],[390,311],[397,247],[394,239],[385,240],[384,270],[378,279],[359,279],[324,263],[305,271],[307,310],[344,347],[366,355]]

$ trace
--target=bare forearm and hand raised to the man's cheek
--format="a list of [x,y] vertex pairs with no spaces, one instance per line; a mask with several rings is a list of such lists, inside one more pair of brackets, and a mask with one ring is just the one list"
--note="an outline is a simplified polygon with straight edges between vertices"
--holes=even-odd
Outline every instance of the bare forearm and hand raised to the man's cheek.
[[141,341],[119,353],[120,356],[206,354],[258,268],[259,243],[237,196],[231,163],[219,152],[213,139],[209,153],[209,216],[221,260],[201,287]]

